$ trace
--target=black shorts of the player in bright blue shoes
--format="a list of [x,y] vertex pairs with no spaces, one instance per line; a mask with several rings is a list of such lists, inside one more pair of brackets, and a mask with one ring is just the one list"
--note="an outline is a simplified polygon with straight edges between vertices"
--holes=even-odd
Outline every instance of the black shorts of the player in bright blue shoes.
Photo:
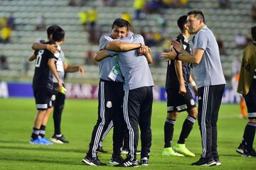
[[33,94],[36,99],[36,108],[40,111],[52,107],[51,97],[53,92],[47,88],[33,89]]

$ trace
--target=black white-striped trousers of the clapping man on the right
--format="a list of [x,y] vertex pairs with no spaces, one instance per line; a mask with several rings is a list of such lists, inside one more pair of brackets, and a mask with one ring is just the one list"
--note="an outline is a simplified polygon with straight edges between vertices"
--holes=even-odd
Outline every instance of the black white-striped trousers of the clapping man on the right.
[[225,84],[198,89],[198,124],[201,131],[204,158],[218,158],[217,120]]

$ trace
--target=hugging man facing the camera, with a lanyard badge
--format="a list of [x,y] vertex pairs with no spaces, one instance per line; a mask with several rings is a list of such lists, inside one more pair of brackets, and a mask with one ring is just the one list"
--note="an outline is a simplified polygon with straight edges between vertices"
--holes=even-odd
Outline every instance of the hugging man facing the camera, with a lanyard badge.
[[[115,43],[109,43],[113,39],[125,38],[128,29],[127,21],[118,18],[112,24],[111,35],[102,35],[100,38],[100,50],[105,50],[107,47],[117,47],[118,50],[132,50],[141,47],[140,44],[129,43],[125,46],[118,47]],[[97,158],[97,147],[99,146],[100,138],[103,132],[107,129],[110,121],[113,120],[113,154],[110,159],[111,164],[121,164],[122,142],[123,142],[123,123],[122,116],[122,101],[124,97],[123,78],[119,71],[119,64],[115,57],[107,57],[100,61],[100,83],[98,95],[98,119],[95,128],[92,131],[92,139],[89,145],[89,150],[82,162],[91,166],[105,166]]]

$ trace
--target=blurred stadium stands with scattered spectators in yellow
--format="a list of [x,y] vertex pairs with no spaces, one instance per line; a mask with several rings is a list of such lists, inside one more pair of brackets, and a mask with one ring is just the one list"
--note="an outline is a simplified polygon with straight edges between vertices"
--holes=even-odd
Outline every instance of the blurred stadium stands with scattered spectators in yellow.
[[161,52],[169,51],[178,35],[176,20],[191,9],[203,11],[206,25],[213,30],[220,48],[225,78],[230,86],[240,71],[242,49],[252,39],[250,27],[256,23],[255,0],[0,0],[0,80],[31,81],[34,63],[28,62],[31,45],[46,39],[46,28],[57,24],[66,32],[63,45],[70,64],[85,69],[68,75],[67,81],[97,84],[98,67],[93,60],[99,38],[110,33],[115,18],[132,24],[151,47],[151,73],[156,85],[163,86],[166,62]]

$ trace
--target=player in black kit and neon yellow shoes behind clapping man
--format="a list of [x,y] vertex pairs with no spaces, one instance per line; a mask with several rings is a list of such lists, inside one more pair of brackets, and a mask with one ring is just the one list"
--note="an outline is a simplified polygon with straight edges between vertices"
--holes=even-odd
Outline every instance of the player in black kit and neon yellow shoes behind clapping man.
[[[177,24],[181,34],[176,37],[177,41],[182,41],[183,48],[191,52],[188,39],[187,16],[178,18]],[[174,48],[171,50],[175,50]],[[193,100],[188,84],[193,84],[193,90],[197,94],[195,81],[191,77],[191,64],[178,60],[169,60],[166,73],[166,93],[167,93],[167,118],[164,123],[164,149],[162,155],[174,157],[195,157],[185,146],[185,140],[190,134],[193,124],[196,122],[198,110],[196,102]],[[174,149],[171,147],[171,140],[174,135],[174,124],[179,112],[187,111],[188,117],[183,123],[181,135]]]

